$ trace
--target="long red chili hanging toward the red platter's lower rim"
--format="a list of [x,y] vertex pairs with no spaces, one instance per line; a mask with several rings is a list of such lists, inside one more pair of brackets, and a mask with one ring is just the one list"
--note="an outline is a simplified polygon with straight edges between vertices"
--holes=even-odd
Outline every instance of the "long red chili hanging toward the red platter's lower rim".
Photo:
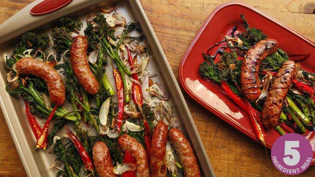
[[221,85],[226,94],[229,95],[229,97],[249,115],[256,137],[265,144],[266,133],[261,125],[257,111],[250,105],[248,100],[243,100],[237,94],[235,94],[225,81],[221,81]]

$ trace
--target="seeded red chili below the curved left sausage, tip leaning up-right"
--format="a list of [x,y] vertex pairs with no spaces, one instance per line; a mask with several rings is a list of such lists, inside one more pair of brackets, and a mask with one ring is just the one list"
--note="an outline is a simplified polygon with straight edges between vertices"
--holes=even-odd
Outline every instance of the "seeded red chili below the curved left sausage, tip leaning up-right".
[[36,143],[36,148],[35,149],[43,149],[43,150],[46,150],[46,147],[47,147],[47,138],[48,138],[48,128],[49,128],[49,125],[50,125],[50,122],[51,120],[53,119],[54,117],[54,113],[55,111],[57,110],[57,107],[58,107],[58,103],[56,104],[56,106],[54,107],[53,111],[51,111],[51,113],[49,114],[48,118],[47,118],[47,121],[45,123],[45,125],[43,126],[43,129],[37,139],[37,143]]

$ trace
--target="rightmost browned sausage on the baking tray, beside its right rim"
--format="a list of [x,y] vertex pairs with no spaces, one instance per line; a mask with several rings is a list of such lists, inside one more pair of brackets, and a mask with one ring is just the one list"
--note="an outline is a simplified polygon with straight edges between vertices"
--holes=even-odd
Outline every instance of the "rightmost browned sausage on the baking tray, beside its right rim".
[[199,166],[192,146],[185,135],[177,128],[169,130],[169,140],[173,144],[186,177],[200,176]]

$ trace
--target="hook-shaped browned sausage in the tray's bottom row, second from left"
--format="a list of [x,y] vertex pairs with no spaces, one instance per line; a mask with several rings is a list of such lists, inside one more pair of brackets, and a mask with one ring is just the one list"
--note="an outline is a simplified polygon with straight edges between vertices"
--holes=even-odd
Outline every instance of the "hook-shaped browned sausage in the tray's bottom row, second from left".
[[118,138],[119,148],[125,152],[127,149],[137,161],[136,176],[150,177],[148,157],[144,147],[133,137],[123,134]]

